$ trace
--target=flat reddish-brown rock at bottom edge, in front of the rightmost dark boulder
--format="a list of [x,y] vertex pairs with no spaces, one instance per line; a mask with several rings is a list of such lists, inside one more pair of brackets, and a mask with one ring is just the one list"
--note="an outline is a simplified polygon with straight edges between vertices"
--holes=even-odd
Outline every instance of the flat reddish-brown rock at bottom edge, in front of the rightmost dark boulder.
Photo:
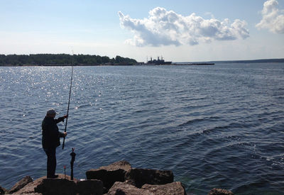
[[181,182],[173,182],[163,185],[145,184],[141,189],[146,189],[155,195],[186,195],[185,187]]

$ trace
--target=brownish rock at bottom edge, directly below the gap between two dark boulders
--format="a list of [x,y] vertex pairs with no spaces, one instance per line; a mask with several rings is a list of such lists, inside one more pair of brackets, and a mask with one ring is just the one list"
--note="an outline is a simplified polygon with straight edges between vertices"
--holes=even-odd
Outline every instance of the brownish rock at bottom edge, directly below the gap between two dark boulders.
[[126,184],[125,182],[115,182],[114,185],[109,189],[107,195],[154,195],[147,189],[138,189],[136,186]]

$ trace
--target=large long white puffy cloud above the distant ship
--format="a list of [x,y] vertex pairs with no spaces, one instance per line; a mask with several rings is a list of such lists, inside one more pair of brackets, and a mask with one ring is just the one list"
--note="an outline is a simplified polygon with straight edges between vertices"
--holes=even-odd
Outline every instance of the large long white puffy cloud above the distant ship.
[[182,16],[174,11],[156,7],[149,11],[148,18],[135,19],[124,15],[121,11],[119,19],[121,27],[134,33],[126,43],[136,46],[160,45],[197,45],[200,42],[210,43],[212,40],[236,40],[248,38],[249,30],[246,21],[229,19],[219,21],[196,16]]

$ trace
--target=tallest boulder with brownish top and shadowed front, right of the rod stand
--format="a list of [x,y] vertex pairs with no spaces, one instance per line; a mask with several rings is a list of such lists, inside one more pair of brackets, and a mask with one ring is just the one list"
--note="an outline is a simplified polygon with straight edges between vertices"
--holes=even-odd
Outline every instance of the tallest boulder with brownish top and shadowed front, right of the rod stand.
[[87,179],[99,179],[104,183],[106,192],[114,182],[124,182],[126,172],[131,169],[131,165],[126,161],[114,162],[111,165],[90,169],[86,172]]

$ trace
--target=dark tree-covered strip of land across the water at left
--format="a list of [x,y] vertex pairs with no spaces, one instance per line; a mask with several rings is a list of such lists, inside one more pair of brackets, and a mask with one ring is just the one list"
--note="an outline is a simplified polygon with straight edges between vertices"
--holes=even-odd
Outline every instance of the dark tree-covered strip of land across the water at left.
[[121,57],[109,58],[99,55],[68,55],[68,54],[31,54],[31,55],[0,55],[0,66],[13,65],[131,65],[136,60]]

